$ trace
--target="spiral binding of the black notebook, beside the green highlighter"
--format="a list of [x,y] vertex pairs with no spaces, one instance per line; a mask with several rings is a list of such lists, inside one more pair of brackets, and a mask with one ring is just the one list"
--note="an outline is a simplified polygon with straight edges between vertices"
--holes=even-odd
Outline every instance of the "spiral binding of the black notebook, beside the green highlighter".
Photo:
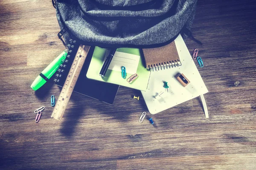
[[[68,62],[69,58],[70,58],[70,54],[73,51],[73,48],[75,47],[76,44],[76,40],[69,40],[69,43],[67,44],[68,49],[65,49],[64,51],[67,53],[66,59],[62,59],[62,63],[60,64],[60,68],[58,68],[57,72],[55,74],[55,79],[53,81],[55,82],[60,82],[60,78],[63,76],[62,74],[64,73],[64,68],[67,67],[66,63]],[[62,69],[63,68],[63,69]]]

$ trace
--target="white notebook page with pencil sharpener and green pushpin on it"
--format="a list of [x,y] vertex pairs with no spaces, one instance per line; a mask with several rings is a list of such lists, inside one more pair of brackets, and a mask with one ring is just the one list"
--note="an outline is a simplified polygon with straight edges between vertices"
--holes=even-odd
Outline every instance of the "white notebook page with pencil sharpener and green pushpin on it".
[[[181,35],[175,39],[175,45],[182,66],[165,68],[165,70],[160,69],[160,71],[154,69],[154,71],[151,71],[147,91],[141,91],[148,111],[151,114],[172,108],[175,105],[208,92]],[[190,83],[186,85],[186,87],[183,87],[175,77],[177,74],[184,74],[186,78],[189,79]],[[168,82],[169,93],[167,93],[166,88],[164,88],[163,82]],[[162,92],[164,93],[162,94]],[[157,96],[157,94],[160,94],[160,96]]]

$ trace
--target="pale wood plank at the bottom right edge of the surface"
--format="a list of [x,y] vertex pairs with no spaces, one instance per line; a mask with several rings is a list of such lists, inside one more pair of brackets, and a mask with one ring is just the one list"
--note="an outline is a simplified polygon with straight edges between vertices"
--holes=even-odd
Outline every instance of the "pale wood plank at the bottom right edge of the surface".
[[[154,170],[233,169],[233,167],[236,167],[236,169],[253,170],[253,166],[256,166],[254,163],[255,158],[255,154],[180,156],[160,159],[144,159],[142,155],[140,159],[117,161],[117,170],[145,169],[145,167],[148,167],[148,164],[151,165],[149,169]],[[215,162],[215,164],[211,164],[211,162]]]

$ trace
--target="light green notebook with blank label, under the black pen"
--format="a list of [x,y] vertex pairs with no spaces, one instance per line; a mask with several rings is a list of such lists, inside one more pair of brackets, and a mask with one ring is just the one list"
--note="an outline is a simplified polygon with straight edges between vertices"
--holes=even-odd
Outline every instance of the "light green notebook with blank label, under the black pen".
[[[145,68],[145,64],[140,57],[140,49],[118,48],[114,54],[110,66],[108,67],[105,77],[101,77],[99,76],[99,72],[108,53],[109,50],[105,48],[95,47],[86,77],[88,79],[94,79],[146,91],[150,71]],[[122,78],[122,66],[124,66],[126,70],[125,79]],[[127,82],[127,79],[133,74],[137,74],[138,77],[130,84]]]

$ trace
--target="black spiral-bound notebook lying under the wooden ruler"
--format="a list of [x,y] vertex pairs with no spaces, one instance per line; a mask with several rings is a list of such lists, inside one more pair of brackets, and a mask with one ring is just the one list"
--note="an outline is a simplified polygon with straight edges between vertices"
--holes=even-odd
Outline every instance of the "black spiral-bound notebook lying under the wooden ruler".
[[[74,40],[69,40],[67,46],[69,48],[67,57],[60,65],[60,68],[56,72],[54,79],[55,84],[61,87],[63,87],[67,75],[70,71],[71,65],[76,56],[76,52],[79,48],[79,44],[76,43],[76,41]],[[79,77],[77,79],[74,91],[112,105],[116,97],[119,85],[99,82],[96,80],[88,79],[86,77],[87,70],[93,56],[93,51],[94,47],[90,47],[84,65],[81,69],[81,73],[79,74]]]

